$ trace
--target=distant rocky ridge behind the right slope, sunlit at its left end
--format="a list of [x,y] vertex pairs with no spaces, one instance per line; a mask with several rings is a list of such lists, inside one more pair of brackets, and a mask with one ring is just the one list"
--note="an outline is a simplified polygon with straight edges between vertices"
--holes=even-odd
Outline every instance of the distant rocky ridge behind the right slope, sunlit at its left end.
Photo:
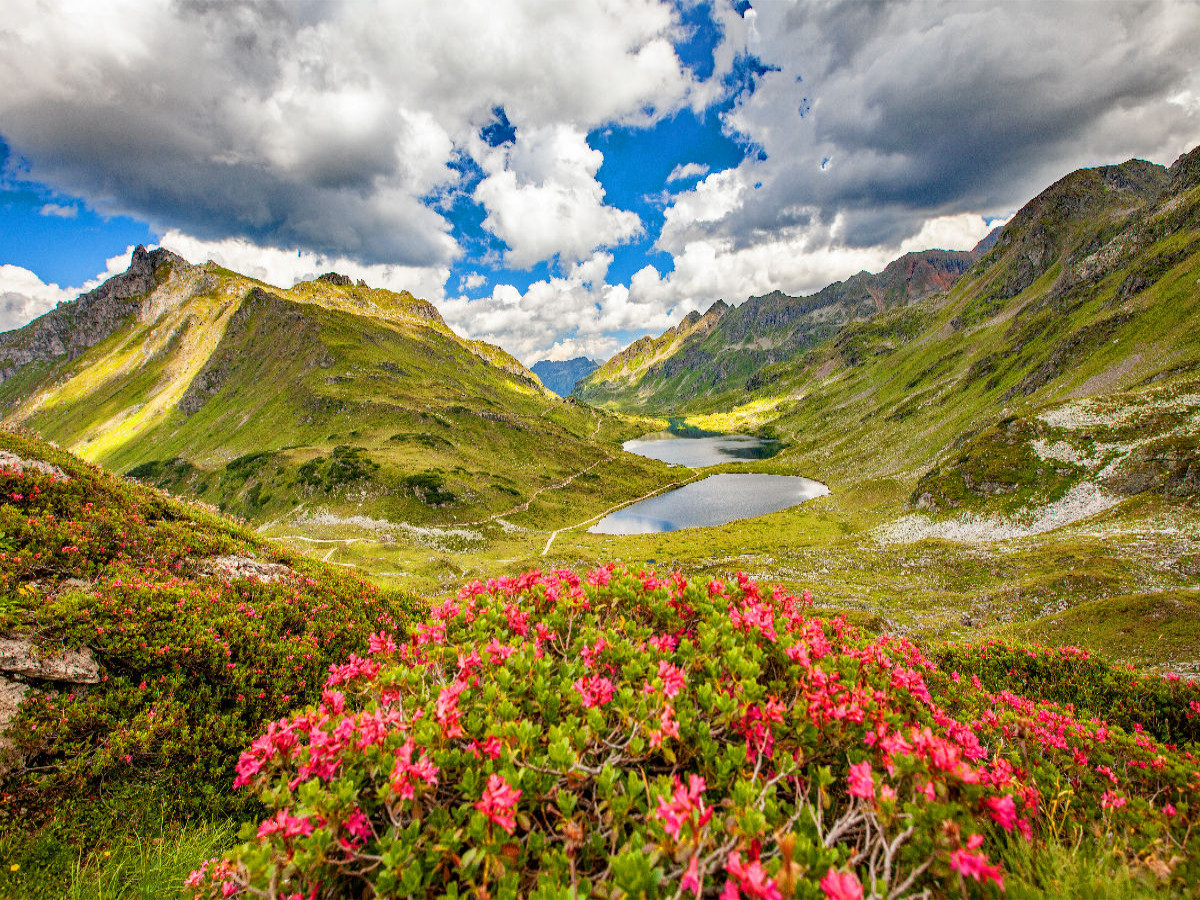
[[809,296],[780,290],[738,306],[689,313],[659,337],[635,341],[576,388],[613,409],[668,413],[710,395],[734,397],[764,366],[792,359],[846,324],[949,288],[977,251],[906,253],[878,274],[859,272]]

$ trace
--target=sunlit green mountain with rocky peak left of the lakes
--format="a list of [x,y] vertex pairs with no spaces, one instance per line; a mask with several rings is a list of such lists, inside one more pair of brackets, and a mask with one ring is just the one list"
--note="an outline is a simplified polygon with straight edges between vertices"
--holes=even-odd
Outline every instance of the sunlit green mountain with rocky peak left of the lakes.
[[[572,479],[630,427],[407,292],[334,272],[280,289],[162,248],[0,335],[0,379],[7,425],[256,522],[449,526],[551,486],[570,516],[611,505]],[[649,490],[649,470],[623,478]]]

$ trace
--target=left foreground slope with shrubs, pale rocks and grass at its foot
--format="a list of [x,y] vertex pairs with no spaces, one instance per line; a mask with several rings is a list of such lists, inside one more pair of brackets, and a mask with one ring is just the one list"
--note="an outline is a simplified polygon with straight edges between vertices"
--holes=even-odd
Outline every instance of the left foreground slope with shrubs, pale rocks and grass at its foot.
[[226,835],[256,809],[241,748],[424,606],[28,436],[0,431],[0,896],[64,896],[109,848],[144,871],[185,821]]

